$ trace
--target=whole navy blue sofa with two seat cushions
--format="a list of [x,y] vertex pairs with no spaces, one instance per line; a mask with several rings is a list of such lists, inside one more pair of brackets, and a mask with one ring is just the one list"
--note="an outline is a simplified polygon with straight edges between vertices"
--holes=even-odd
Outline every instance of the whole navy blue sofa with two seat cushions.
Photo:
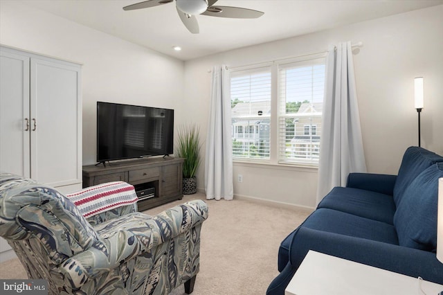
[[282,241],[280,274],[266,294],[284,294],[309,250],[443,284],[435,256],[440,177],[443,157],[422,147],[408,147],[398,175],[351,173]]

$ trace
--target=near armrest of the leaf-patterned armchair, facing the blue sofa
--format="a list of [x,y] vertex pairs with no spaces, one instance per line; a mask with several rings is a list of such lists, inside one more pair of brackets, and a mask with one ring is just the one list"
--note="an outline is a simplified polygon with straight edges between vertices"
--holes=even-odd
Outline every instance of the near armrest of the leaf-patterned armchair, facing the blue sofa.
[[[150,217],[132,213],[100,224],[100,241],[86,251],[65,260],[59,267],[65,285],[76,290],[99,280],[136,256],[144,256],[145,272],[154,265],[156,247],[198,226],[208,218],[208,206],[201,200],[187,202]],[[147,263],[149,262],[149,263]]]

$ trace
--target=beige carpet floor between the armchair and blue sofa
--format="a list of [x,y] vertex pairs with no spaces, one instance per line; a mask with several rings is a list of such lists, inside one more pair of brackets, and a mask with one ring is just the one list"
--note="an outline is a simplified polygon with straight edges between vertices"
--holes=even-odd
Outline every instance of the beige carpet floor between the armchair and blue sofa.
[[[192,199],[204,199],[201,193],[183,200],[152,208],[155,215],[166,208]],[[277,255],[280,242],[298,226],[309,211],[269,206],[246,199],[205,200],[209,217],[201,232],[200,272],[194,295],[264,294],[278,275]],[[17,258],[0,264],[0,278],[27,278]],[[185,294],[184,287],[172,295]]]

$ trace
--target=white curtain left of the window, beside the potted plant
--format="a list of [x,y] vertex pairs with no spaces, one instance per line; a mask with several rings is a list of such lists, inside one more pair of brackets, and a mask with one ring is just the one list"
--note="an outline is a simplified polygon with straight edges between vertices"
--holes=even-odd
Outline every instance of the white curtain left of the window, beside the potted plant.
[[226,66],[214,66],[206,136],[206,199],[233,199],[230,97]]

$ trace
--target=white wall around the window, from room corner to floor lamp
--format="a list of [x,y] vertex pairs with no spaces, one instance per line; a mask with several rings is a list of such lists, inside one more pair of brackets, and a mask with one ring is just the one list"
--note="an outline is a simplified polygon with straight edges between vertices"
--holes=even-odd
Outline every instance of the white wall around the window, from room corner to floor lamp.
[[[401,157],[417,145],[413,79],[423,76],[422,147],[443,154],[443,6],[345,26],[320,33],[250,46],[199,58],[185,64],[183,109],[206,135],[211,69],[240,66],[325,51],[329,44],[363,42],[354,51],[354,69],[365,158],[369,172],[397,174]],[[204,187],[204,165],[199,187]],[[237,175],[243,182],[237,182]],[[234,193],[287,204],[314,207],[316,170],[234,164]]]

